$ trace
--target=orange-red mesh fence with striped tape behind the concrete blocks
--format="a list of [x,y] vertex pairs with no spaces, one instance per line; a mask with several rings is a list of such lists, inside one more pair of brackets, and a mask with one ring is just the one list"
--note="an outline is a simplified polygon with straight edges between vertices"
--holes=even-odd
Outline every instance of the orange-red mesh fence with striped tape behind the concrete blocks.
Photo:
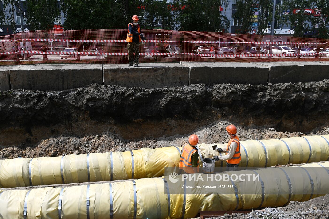
[[[329,61],[329,39],[142,30],[139,62]],[[0,37],[0,65],[128,63],[127,30],[29,31]],[[328,60],[327,60],[328,59]]]

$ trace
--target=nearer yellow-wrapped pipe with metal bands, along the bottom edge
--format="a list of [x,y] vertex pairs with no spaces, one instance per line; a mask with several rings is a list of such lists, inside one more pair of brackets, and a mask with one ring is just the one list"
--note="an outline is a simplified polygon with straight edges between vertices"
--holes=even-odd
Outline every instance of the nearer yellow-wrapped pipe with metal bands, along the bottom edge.
[[[217,182],[224,186],[234,185],[220,194],[212,190],[204,193],[199,189],[187,193],[182,188],[184,180],[168,186],[164,178],[64,188],[0,190],[0,218],[23,219],[24,215],[27,219],[192,218],[200,210],[278,207],[289,201],[307,201],[329,193],[329,162],[220,174],[254,172],[259,174],[260,181]],[[174,194],[174,189],[182,193]]]

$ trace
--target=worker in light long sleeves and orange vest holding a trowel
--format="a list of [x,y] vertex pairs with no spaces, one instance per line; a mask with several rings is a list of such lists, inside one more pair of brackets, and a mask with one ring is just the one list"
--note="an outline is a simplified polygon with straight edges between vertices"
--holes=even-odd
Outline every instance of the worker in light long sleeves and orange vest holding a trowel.
[[241,145],[239,137],[237,136],[237,127],[234,125],[229,125],[225,129],[231,139],[227,144],[226,150],[222,148],[217,148],[217,150],[218,152],[226,152],[226,155],[215,156],[214,160],[226,160],[226,171],[235,171],[238,170],[241,160]]

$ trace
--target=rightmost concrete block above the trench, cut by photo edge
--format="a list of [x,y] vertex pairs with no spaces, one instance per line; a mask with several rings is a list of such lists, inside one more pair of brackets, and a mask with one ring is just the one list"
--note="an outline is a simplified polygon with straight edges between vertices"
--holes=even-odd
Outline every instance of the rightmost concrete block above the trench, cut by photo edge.
[[298,83],[329,78],[328,62],[263,62],[269,68],[268,83]]

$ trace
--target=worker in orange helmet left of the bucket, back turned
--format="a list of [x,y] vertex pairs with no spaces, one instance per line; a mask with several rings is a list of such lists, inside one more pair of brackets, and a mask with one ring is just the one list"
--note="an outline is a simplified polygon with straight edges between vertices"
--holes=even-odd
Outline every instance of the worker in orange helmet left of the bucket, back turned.
[[199,154],[196,148],[198,141],[198,136],[192,134],[189,137],[189,143],[183,145],[178,168],[183,169],[185,173],[199,172]]

